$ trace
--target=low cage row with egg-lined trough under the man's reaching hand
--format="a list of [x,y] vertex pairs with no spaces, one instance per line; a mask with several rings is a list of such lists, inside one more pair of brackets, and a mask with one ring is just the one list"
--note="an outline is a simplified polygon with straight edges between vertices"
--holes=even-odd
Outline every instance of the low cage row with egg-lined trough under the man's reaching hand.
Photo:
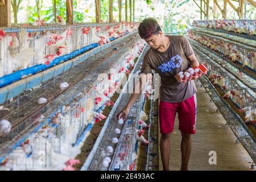
[[[123,91],[130,90],[133,82],[139,79],[142,60],[143,55],[139,56],[137,60],[139,65],[134,69],[135,75],[128,78],[123,86]],[[108,129],[104,133],[101,144],[97,147],[96,154],[93,154],[92,160],[88,159],[89,162],[85,162],[82,170],[132,171],[135,169],[136,159],[138,158],[138,143],[148,144],[147,137],[143,137],[143,134],[150,126],[146,124],[148,116],[143,111],[143,105],[145,99],[152,93],[154,93],[152,77],[148,75],[142,97],[131,107],[126,119],[114,117],[109,121]],[[120,99],[116,101],[116,104],[118,104],[115,109],[116,114],[118,110],[123,109],[122,107],[126,105],[129,94],[123,92],[119,97]]]

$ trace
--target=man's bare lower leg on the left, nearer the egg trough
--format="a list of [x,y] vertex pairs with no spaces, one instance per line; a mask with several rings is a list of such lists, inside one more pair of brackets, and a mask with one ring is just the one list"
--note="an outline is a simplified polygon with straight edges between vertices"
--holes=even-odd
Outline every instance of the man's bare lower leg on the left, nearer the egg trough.
[[163,164],[163,171],[169,171],[169,160],[170,160],[170,144],[171,133],[161,134],[160,138],[160,151]]

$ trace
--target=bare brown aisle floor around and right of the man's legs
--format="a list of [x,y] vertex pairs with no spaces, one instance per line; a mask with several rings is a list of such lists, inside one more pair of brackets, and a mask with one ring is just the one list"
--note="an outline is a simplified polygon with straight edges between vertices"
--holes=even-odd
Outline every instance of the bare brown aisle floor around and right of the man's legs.
[[[249,154],[241,143],[236,144],[236,136],[222,117],[217,107],[210,101],[208,93],[195,81],[197,87],[197,133],[192,136],[192,153],[189,170],[251,170]],[[181,164],[179,121],[175,120],[175,129],[171,137],[170,170],[179,170]],[[160,135],[159,135],[160,139]],[[209,164],[209,152],[216,151],[217,164]],[[159,167],[162,170],[159,149]]]

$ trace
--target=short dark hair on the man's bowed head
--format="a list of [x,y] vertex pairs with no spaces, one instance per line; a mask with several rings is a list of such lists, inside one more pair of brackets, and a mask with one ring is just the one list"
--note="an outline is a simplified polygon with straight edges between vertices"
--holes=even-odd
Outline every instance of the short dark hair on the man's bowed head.
[[158,32],[162,30],[154,18],[146,18],[139,24],[138,31],[142,39],[147,39],[153,34],[158,35]]

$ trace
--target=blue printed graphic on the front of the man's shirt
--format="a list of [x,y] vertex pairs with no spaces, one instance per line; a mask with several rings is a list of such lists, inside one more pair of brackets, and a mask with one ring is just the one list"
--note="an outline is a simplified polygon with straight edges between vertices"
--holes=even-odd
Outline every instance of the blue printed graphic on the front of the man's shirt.
[[162,73],[170,72],[172,69],[180,68],[182,64],[183,59],[180,57],[180,55],[176,55],[172,57],[167,63],[163,63],[158,68]]

